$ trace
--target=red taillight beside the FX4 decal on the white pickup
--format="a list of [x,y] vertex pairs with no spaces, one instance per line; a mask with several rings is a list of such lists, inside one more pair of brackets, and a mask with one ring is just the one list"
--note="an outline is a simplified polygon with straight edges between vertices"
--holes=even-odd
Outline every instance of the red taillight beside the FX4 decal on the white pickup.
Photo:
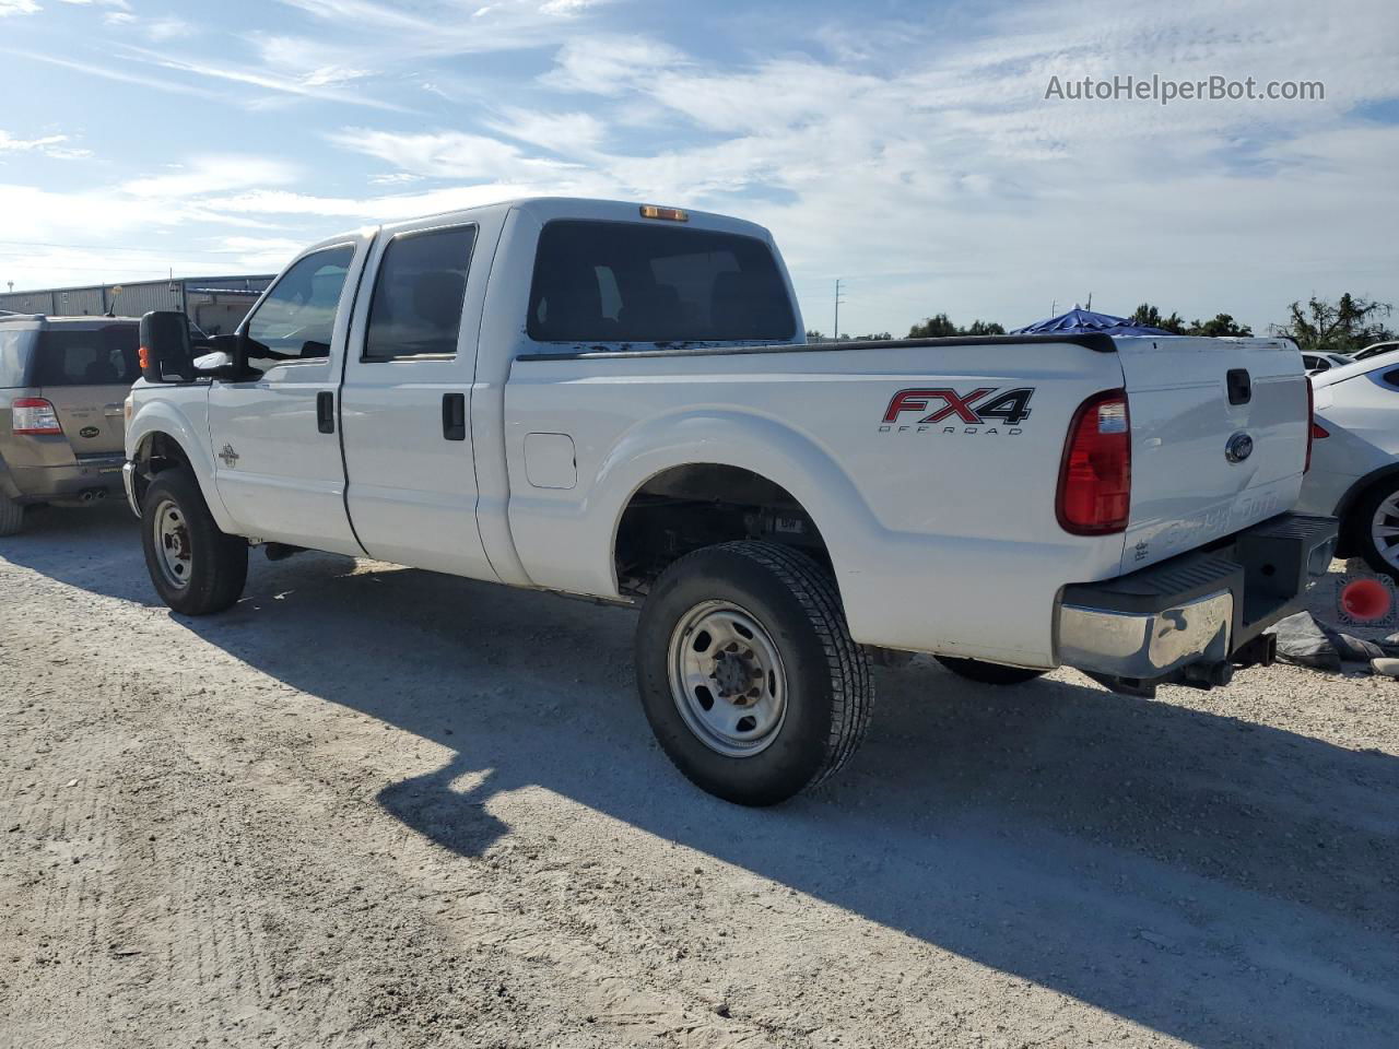
[[1123,531],[1132,506],[1132,422],[1125,390],[1105,390],[1073,415],[1055,512],[1076,536]]

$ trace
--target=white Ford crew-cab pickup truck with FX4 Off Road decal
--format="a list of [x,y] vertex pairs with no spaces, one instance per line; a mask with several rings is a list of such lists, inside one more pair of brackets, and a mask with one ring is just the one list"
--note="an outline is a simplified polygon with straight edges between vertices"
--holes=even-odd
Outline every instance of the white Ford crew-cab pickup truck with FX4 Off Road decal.
[[1226,684],[1329,561],[1335,522],[1287,515],[1286,340],[802,333],[771,235],[720,215],[533,199],[332,238],[234,336],[144,317],[151,579],[221,611],[266,544],[638,604],[660,744],[769,804],[851,755],[877,650]]

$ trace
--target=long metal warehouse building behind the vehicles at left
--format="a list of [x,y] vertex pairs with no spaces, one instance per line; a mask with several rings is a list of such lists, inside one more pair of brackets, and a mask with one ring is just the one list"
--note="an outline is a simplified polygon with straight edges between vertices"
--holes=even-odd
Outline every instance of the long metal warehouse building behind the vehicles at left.
[[74,316],[112,313],[139,317],[151,309],[180,309],[211,336],[232,331],[273,274],[235,277],[175,277],[132,284],[91,284],[81,288],[0,292],[0,309],[14,313]]

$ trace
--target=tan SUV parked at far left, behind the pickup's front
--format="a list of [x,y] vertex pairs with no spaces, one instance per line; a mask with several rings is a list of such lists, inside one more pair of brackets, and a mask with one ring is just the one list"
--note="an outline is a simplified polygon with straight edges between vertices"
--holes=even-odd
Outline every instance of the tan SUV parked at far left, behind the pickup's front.
[[140,378],[134,317],[0,316],[0,536],[27,506],[122,492],[122,400]]

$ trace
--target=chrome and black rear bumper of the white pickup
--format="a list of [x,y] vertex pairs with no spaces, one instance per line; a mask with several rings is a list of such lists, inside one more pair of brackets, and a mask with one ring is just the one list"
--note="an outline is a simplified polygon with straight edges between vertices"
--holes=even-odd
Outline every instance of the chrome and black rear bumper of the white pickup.
[[1333,518],[1284,513],[1210,550],[1066,586],[1056,615],[1058,660],[1109,685],[1121,683],[1123,691],[1171,680],[1206,684],[1199,667],[1227,671],[1233,663],[1256,662],[1249,659],[1256,649],[1245,646],[1301,606],[1335,545]]

